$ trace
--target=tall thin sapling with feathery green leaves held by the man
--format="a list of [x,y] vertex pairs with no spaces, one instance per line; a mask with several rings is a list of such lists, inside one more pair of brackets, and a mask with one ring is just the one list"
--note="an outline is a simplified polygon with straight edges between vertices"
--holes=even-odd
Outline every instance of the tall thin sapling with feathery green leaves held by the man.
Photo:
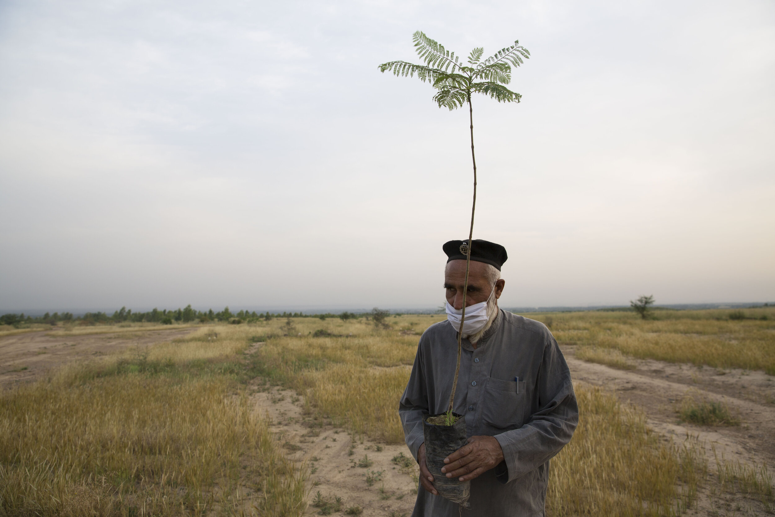
[[[468,117],[471,133],[471,161],[474,163],[474,201],[471,203],[471,225],[468,232],[468,252],[466,253],[466,277],[463,281],[463,312],[460,315],[460,328],[466,320],[466,293],[468,291],[468,267],[471,260],[471,245],[474,238],[474,212],[477,208],[477,159],[474,156],[474,105],[471,104],[471,94],[481,93],[489,95],[498,102],[519,102],[522,95],[511,91],[505,84],[512,82],[512,67],[518,67],[525,59],[529,59],[530,53],[519,41],[515,41],[511,47],[505,47],[493,56],[482,60],[483,47],[471,50],[466,62],[460,60],[454,52],[449,52],[421,31],[417,31],[412,40],[418,56],[425,64],[413,64],[406,61],[389,61],[379,65],[381,72],[390,71],[399,77],[417,77],[420,81],[429,83],[436,88],[433,102],[439,108],[448,108],[450,111],[468,105]],[[467,63],[467,65],[466,65]],[[451,418],[453,403],[455,401],[455,389],[457,377],[460,374],[460,352],[462,349],[463,333],[457,336],[457,366],[452,384],[452,394],[449,395],[448,417]]]

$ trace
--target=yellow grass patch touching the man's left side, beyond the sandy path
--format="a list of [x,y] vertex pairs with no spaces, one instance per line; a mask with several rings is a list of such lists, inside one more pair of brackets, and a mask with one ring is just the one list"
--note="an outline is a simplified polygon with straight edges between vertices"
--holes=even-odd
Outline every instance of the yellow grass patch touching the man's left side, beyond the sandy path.
[[[261,374],[295,388],[308,404],[353,432],[402,443],[398,398],[406,387],[419,336],[401,334],[400,329],[422,333],[440,319],[391,318],[396,327],[392,330],[374,329],[367,322],[297,319],[295,336],[267,339],[254,360]],[[281,333],[284,325],[284,321],[271,322],[267,333]],[[343,336],[312,337],[318,329]]]

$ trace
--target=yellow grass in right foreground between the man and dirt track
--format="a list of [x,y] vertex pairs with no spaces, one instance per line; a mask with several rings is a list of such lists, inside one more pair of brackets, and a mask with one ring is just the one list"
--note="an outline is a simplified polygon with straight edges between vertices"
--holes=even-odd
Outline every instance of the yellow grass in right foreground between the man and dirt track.
[[671,515],[691,504],[708,466],[696,443],[660,442],[646,416],[576,385],[579,425],[549,470],[546,515]]

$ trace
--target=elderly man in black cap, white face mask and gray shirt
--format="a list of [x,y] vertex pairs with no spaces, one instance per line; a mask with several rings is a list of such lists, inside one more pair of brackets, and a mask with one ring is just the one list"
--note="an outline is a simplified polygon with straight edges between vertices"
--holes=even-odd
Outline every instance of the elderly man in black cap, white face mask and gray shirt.
[[[460,329],[467,241],[443,246],[447,321],[422,334],[398,409],[406,444],[420,466],[413,517],[544,515],[549,459],[570,441],[578,406],[570,371],[541,322],[498,308],[503,246],[474,240],[466,315]],[[438,495],[425,464],[422,415],[446,412],[463,355],[453,411],[465,415],[468,443],[444,460],[446,477],[471,480],[470,509]]]

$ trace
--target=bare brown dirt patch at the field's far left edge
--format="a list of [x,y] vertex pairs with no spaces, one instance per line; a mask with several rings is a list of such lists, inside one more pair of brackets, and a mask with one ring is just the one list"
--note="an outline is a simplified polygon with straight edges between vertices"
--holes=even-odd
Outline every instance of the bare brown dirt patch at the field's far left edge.
[[195,329],[148,330],[131,333],[49,336],[50,331],[0,338],[0,389],[33,381],[53,367],[118,352],[128,346],[149,346],[187,335]]

